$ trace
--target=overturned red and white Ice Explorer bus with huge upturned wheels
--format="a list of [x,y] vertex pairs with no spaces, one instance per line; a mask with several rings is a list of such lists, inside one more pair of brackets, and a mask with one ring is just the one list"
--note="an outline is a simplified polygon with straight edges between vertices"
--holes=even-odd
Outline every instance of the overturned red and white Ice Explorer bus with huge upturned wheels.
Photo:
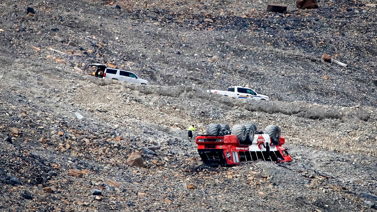
[[[241,161],[250,160],[274,161],[276,163],[291,161],[291,156],[282,146],[285,139],[280,136],[280,128],[277,126],[268,126],[264,133],[262,131],[255,132],[256,127],[248,128],[247,124],[244,124],[243,128],[241,128],[242,125],[233,126],[233,132],[227,130],[228,126],[220,126],[221,128],[216,127],[219,129],[216,132],[208,131],[207,128],[207,135],[198,135],[195,139],[199,155],[207,165],[232,166]],[[270,130],[272,133],[269,133],[268,129],[271,126],[275,130]],[[215,128],[215,126],[211,126],[211,128]],[[238,128],[242,130],[238,130]]]

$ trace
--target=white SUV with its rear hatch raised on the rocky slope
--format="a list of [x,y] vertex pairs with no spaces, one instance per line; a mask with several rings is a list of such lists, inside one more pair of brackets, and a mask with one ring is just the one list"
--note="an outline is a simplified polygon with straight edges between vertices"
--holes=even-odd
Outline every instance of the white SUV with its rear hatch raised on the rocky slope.
[[112,80],[126,81],[129,83],[149,84],[149,81],[140,79],[136,74],[122,69],[107,68],[106,65],[93,63],[90,66],[97,66],[97,70],[93,73],[95,77],[109,78]]

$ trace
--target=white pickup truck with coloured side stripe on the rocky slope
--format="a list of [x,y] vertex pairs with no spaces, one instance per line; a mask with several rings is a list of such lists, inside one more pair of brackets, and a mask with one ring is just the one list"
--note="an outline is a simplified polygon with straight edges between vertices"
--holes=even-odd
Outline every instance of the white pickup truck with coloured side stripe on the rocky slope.
[[228,91],[220,90],[207,90],[207,92],[212,92],[214,94],[221,94],[226,97],[236,97],[236,98],[252,98],[255,100],[268,100],[268,96],[257,94],[253,89],[247,88],[245,86],[230,86]]

